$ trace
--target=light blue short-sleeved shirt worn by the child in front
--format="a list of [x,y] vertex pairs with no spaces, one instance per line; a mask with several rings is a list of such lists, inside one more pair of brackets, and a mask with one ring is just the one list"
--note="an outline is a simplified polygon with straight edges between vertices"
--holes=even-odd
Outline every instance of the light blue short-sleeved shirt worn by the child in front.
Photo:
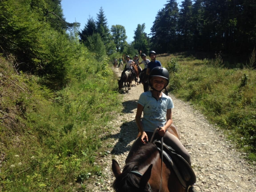
[[154,132],[157,126],[163,127],[167,109],[174,108],[171,97],[162,93],[162,97],[157,101],[152,97],[151,91],[142,93],[138,103],[144,107],[141,119],[143,131],[148,132]]

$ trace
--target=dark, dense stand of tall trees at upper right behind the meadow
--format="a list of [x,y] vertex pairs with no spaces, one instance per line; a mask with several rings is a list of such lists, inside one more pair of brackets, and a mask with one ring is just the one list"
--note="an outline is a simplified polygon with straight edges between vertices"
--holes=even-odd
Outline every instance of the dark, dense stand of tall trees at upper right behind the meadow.
[[251,52],[256,43],[256,1],[169,0],[151,28],[157,52]]

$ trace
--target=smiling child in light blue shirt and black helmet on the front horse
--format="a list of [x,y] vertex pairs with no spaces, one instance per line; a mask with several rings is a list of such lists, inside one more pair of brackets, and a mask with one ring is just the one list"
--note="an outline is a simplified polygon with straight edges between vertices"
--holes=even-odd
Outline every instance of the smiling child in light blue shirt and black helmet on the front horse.
[[[158,133],[155,134],[154,138],[159,139],[163,137],[164,143],[171,146],[190,164],[190,154],[187,149],[179,139],[167,130],[172,124],[172,108],[174,108],[171,97],[162,92],[169,83],[167,69],[163,67],[152,69],[149,81],[152,90],[141,93],[135,116],[140,130],[140,137],[134,141],[126,161],[128,161],[139,146],[151,139],[154,130],[158,127]],[[143,117],[141,118],[142,112]]]

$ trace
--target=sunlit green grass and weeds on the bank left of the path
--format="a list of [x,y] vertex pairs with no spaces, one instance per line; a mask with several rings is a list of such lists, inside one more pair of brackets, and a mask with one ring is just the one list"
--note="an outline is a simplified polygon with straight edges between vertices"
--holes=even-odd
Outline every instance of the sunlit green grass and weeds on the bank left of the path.
[[96,62],[74,61],[70,83],[53,92],[0,58],[0,191],[86,191],[102,174],[99,136],[121,104],[108,60]]

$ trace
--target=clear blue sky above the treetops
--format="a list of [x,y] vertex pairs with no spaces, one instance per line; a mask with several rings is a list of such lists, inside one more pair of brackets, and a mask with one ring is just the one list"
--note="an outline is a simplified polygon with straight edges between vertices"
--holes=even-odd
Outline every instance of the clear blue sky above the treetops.
[[[177,0],[177,3],[181,4],[181,1]],[[102,6],[108,28],[110,29],[112,25],[123,25],[128,37],[127,42],[130,43],[138,24],[145,23],[145,32],[150,33],[157,12],[166,2],[167,0],[62,0],[61,5],[66,21],[79,22],[81,30],[87,23],[89,15],[96,20]]]

